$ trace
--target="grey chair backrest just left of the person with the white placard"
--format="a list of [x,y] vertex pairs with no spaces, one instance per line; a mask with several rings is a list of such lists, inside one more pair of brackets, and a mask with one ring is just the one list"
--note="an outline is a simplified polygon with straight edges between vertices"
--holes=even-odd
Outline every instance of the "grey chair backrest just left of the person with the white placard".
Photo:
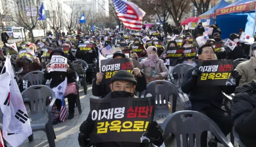
[[44,78],[43,71],[31,71],[26,74],[22,80],[27,80],[30,82],[30,85],[45,85],[46,79]]

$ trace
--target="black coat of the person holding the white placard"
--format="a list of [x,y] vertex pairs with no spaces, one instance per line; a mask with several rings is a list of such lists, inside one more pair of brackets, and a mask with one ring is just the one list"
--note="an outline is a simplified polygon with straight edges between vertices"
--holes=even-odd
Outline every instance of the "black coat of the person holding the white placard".
[[68,79],[68,83],[75,82],[76,72],[73,69],[73,66],[72,66],[72,64],[69,60],[68,60],[67,63],[69,64],[69,69],[70,69],[67,72],[52,71],[50,73],[47,73],[47,70],[45,70],[44,78],[45,79],[52,79],[51,84],[50,84],[51,88],[58,86],[60,83],[62,83],[62,81],[65,80],[66,77]]

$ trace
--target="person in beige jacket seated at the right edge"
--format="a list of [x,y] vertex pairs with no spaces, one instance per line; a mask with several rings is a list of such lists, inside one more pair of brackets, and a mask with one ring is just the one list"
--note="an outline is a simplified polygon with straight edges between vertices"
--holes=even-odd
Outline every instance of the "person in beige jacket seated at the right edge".
[[239,86],[243,86],[247,83],[251,83],[252,80],[256,80],[256,42],[251,45],[253,57],[245,62],[242,62],[237,65],[236,70],[242,75],[242,78],[239,81]]

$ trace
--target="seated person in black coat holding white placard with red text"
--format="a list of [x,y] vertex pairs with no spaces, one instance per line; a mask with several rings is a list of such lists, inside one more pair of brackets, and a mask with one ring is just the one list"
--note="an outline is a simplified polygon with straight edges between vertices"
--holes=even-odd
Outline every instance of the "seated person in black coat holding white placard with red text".
[[[44,72],[45,79],[51,79],[50,87],[54,88],[58,86],[67,77],[68,85],[66,88],[65,96],[68,97],[68,119],[74,118],[75,102],[76,102],[76,83],[75,83],[75,70],[67,58],[64,57],[64,51],[62,48],[55,48],[51,54],[51,62],[46,65]],[[65,71],[66,70],[66,71]],[[55,101],[57,109],[61,110],[61,100],[56,99]]]

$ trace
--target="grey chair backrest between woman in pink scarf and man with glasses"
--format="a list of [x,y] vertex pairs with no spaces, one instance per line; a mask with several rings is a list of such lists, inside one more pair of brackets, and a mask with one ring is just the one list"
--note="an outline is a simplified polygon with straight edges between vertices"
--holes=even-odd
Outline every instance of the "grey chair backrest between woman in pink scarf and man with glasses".
[[172,77],[173,77],[173,74],[174,74],[174,73],[177,73],[177,75],[178,75],[178,79],[174,79],[174,81],[172,81],[172,82],[174,82],[173,84],[174,84],[175,86],[177,86],[179,89],[181,88],[181,85],[182,85],[182,83],[183,83],[184,77],[185,77],[187,71],[188,71],[190,68],[194,68],[194,67],[191,66],[190,64],[182,63],[182,64],[176,65],[176,66],[171,70]]

